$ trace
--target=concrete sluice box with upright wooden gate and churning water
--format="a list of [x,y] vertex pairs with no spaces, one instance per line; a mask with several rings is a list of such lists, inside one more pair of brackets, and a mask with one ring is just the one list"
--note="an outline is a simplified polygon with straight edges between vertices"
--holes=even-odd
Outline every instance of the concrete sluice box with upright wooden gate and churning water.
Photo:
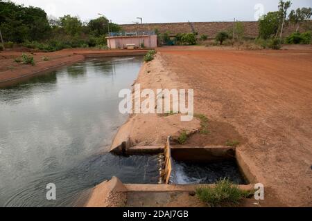
[[[238,184],[240,189],[254,188],[252,184],[248,184],[251,180],[247,176],[248,173],[245,175],[246,168],[236,160],[235,148],[171,146],[170,137],[164,146],[126,148],[126,143],[123,142],[112,153],[155,155],[155,163],[159,166],[159,184],[123,184],[118,177],[113,177],[92,190],[85,206],[171,206],[168,202],[174,202],[176,205],[182,198],[193,202],[196,199],[196,189],[200,186],[214,186],[217,180],[225,177]],[[191,205],[205,206],[200,202]]]

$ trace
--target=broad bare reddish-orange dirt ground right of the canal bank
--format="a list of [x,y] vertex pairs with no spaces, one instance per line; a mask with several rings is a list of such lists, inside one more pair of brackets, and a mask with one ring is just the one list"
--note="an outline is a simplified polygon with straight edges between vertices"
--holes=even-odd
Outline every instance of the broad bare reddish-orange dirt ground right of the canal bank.
[[280,202],[312,206],[312,47],[283,49],[159,52],[164,68],[195,90],[195,112],[209,118],[210,134],[189,143],[238,140],[257,180]]

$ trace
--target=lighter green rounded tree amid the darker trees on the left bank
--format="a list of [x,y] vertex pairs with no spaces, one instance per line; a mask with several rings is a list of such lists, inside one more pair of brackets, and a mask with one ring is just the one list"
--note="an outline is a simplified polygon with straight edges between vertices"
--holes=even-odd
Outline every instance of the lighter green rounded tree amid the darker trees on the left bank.
[[71,36],[79,35],[83,28],[83,23],[80,19],[78,17],[71,17],[70,15],[60,17],[60,25],[64,28],[67,35]]

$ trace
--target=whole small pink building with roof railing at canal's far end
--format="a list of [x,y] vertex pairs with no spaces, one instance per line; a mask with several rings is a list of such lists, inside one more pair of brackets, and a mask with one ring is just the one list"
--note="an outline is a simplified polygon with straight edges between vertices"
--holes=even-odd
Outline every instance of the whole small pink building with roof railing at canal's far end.
[[153,32],[111,32],[110,37],[106,37],[107,46],[111,49],[125,49],[128,46],[135,48],[156,48],[157,35]]

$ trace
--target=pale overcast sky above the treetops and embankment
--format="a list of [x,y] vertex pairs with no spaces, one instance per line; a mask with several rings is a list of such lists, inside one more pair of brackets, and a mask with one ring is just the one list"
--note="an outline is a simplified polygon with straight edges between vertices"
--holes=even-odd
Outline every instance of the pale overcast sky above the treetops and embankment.
[[[255,21],[263,12],[277,10],[279,0],[13,0],[43,8],[48,15],[78,15],[89,21],[102,13],[114,23],[184,21]],[[292,8],[311,7],[312,0],[293,0]]]

